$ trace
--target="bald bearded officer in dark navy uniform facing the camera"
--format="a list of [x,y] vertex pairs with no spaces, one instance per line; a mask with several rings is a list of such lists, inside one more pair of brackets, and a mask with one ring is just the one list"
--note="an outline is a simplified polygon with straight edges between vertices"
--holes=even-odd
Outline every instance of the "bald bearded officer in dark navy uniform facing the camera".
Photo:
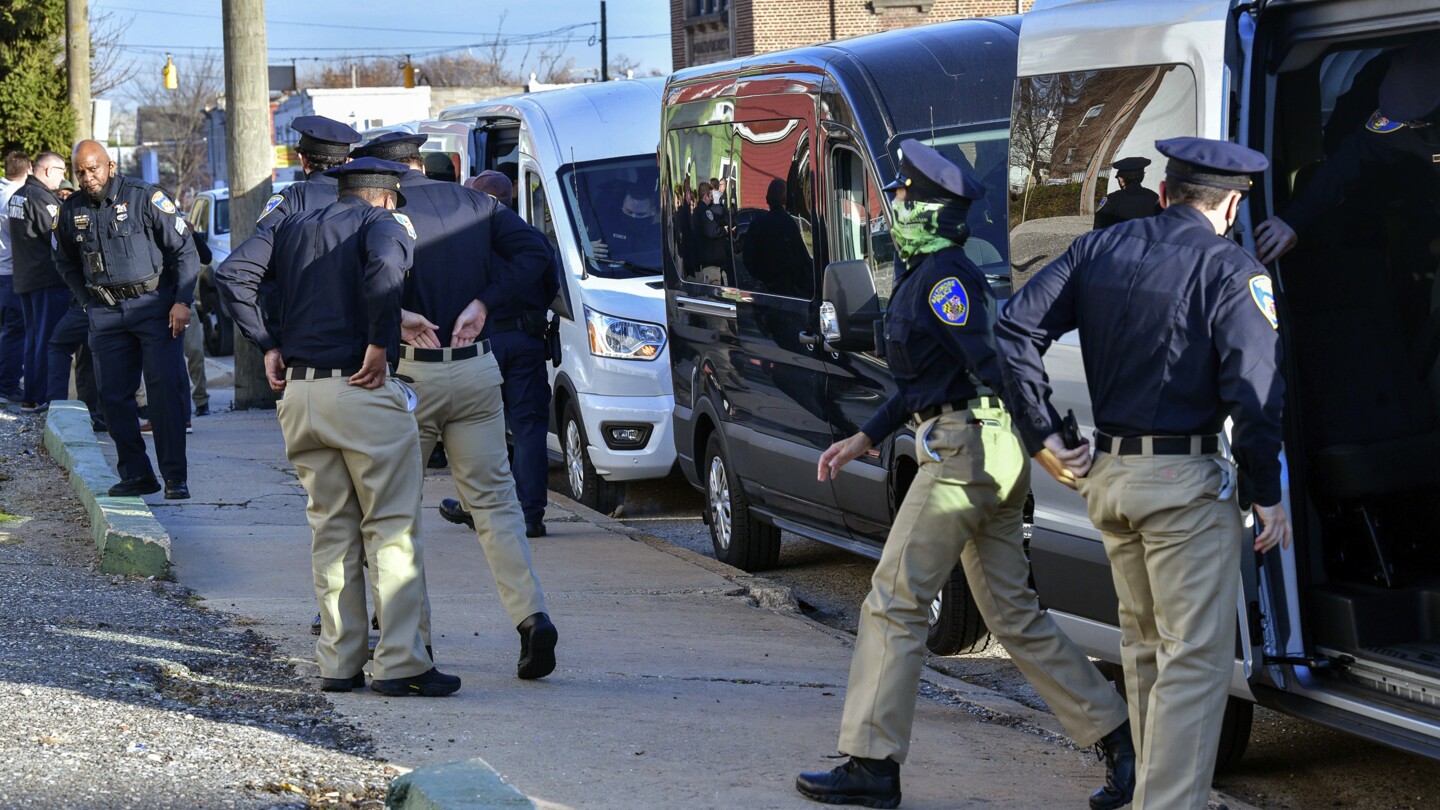
[[144,372],[156,455],[167,499],[186,486],[186,380],[180,336],[190,324],[200,271],[184,218],[158,186],[115,173],[105,147],[81,141],[72,159],[81,190],[60,208],[55,264],[89,310],[99,398],[120,455],[112,496],[157,491],[140,437],[135,389]]

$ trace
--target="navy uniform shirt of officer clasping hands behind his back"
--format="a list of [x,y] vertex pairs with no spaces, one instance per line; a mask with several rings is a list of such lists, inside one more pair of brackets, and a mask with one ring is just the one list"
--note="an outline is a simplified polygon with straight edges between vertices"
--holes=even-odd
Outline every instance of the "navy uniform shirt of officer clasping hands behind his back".
[[418,239],[402,301],[436,324],[441,346],[471,301],[500,308],[550,271],[550,242],[495,197],[413,169],[400,177],[400,193]]

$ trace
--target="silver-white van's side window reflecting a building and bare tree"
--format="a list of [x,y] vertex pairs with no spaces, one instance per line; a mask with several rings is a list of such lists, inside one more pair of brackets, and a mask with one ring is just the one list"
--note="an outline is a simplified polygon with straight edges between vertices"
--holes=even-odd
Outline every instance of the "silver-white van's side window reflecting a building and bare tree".
[[1151,160],[1139,183],[1159,184],[1155,141],[1195,135],[1195,74],[1185,65],[1025,76],[1015,82],[1009,137],[1009,264],[1018,288],[1094,226],[1119,190],[1110,166]]

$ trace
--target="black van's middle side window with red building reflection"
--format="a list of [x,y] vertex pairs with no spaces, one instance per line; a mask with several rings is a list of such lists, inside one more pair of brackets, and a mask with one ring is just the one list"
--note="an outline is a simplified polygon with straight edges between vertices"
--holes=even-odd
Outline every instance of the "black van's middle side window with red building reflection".
[[798,118],[734,124],[734,272],[747,291],[815,294],[809,128]]

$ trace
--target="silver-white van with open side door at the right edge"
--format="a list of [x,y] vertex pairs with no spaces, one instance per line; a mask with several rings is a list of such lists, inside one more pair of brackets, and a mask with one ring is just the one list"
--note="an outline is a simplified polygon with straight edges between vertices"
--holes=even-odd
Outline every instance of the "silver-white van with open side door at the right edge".
[[[1156,138],[1228,138],[1270,157],[1236,226],[1253,249],[1254,226],[1284,215],[1348,138],[1397,127],[1375,112],[1385,66],[1436,32],[1433,0],[1037,1],[1011,111],[1015,285],[1093,226],[1117,159],[1153,160],[1155,187]],[[1398,169],[1368,167],[1272,267],[1295,543],[1244,553],[1234,574],[1220,767],[1244,751],[1251,702],[1440,758],[1440,396],[1427,385],[1440,212],[1430,161]],[[1045,368],[1056,406],[1089,434],[1074,334]],[[1035,589],[1071,638],[1119,662],[1115,587],[1084,502],[1038,468],[1032,480]]]

